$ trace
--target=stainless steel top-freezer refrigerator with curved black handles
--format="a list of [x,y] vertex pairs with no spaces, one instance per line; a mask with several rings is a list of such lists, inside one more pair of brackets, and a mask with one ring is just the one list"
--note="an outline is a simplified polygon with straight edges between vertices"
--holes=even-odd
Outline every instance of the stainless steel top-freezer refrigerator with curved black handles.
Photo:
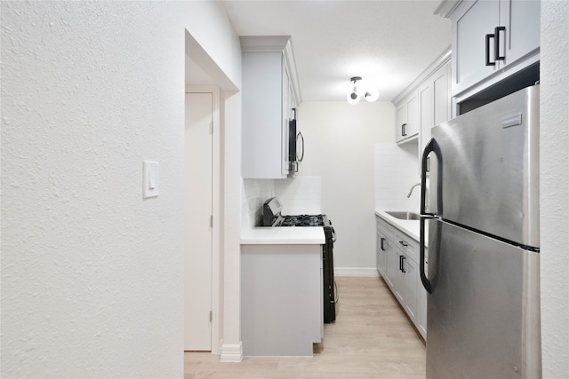
[[541,377],[539,93],[437,125],[423,152],[427,378]]

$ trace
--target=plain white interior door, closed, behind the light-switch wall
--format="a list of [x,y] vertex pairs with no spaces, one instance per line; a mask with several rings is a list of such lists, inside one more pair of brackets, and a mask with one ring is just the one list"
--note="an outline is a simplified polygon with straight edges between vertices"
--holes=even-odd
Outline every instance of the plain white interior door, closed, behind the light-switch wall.
[[212,93],[186,93],[184,350],[212,350]]

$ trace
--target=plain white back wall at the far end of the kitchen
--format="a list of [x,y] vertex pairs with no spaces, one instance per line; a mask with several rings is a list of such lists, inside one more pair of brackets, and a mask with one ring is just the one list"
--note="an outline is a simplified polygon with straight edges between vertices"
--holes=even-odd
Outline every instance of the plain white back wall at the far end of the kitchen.
[[322,178],[322,213],[337,232],[334,266],[375,267],[374,146],[395,141],[395,107],[308,101],[298,125],[306,146],[299,173]]

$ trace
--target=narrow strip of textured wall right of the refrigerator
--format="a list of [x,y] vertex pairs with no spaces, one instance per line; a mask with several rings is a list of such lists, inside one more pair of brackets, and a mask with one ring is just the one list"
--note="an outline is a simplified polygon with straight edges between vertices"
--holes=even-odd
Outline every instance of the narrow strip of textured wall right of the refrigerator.
[[569,377],[569,3],[541,2],[541,345]]

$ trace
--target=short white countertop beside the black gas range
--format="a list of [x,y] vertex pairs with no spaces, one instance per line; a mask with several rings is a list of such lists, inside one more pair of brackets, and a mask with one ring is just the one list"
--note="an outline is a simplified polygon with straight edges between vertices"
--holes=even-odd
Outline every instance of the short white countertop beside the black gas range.
[[318,226],[260,226],[241,232],[242,245],[323,245],[324,228]]

